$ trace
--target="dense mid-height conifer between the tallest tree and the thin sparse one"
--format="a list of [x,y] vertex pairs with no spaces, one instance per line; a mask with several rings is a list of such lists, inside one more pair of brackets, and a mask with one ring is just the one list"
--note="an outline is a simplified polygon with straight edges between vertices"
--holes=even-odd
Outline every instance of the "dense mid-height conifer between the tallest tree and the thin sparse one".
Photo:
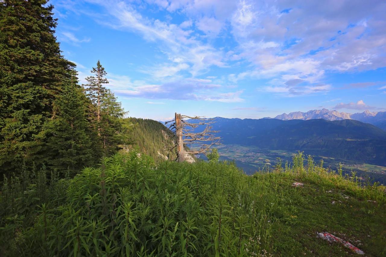
[[46,144],[46,155],[51,156],[48,165],[59,171],[79,171],[85,165],[92,165],[98,156],[92,147],[92,133],[86,118],[88,99],[75,75],[54,101],[55,116],[45,126],[50,134]]

